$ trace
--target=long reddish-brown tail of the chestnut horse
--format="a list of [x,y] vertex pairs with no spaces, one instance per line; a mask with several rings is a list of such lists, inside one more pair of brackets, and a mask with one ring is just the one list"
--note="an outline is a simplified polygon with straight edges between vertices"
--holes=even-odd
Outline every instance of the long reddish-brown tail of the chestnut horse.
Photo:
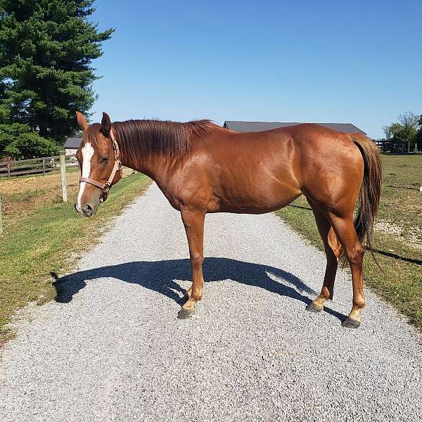
[[380,203],[381,194],[381,153],[376,144],[362,134],[350,134],[350,139],[355,143],[364,158],[364,180],[359,193],[359,210],[354,219],[354,229],[357,237],[365,248],[373,255],[371,240],[373,233],[373,219],[375,218]]

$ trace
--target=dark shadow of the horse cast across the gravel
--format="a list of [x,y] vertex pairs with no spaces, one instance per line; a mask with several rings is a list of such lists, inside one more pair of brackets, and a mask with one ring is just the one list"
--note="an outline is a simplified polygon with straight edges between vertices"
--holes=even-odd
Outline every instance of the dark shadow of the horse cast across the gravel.
[[[204,260],[203,274],[206,282],[231,279],[300,300],[306,305],[311,302],[307,295],[316,295],[312,288],[290,272],[251,262],[209,257]],[[181,305],[184,301],[185,290],[174,280],[191,280],[191,263],[189,260],[139,261],[77,271],[60,278],[56,277],[53,283],[56,288],[56,301],[70,302],[73,295],[87,285],[86,280],[102,277],[113,277],[127,283],[139,284],[166,295]],[[324,310],[340,321],[346,319],[345,315],[326,306]]]

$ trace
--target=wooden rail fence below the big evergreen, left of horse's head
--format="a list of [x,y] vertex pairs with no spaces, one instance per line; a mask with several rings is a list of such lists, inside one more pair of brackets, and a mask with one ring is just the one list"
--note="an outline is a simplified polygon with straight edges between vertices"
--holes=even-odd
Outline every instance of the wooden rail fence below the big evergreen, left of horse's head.
[[[65,165],[77,165],[75,156],[67,155],[65,158]],[[30,160],[0,162],[0,177],[23,176],[25,174],[46,174],[53,170],[60,170],[59,155],[32,158]]]

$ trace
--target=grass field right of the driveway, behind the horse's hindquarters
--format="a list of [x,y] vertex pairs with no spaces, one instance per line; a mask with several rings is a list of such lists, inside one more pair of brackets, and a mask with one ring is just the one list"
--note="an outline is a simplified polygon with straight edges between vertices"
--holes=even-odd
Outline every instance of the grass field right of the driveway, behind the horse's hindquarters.
[[[373,248],[384,274],[367,252],[364,279],[366,286],[422,328],[422,192],[418,191],[422,186],[422,155],[383,155],[382,160],[383,188]],[[323,250],[304,196],[277,215]]]

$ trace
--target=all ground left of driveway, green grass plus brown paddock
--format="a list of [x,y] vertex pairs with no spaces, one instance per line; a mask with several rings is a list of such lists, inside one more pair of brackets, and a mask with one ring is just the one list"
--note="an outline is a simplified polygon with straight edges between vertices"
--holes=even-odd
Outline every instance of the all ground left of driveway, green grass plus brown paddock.
[[66,204],[61,202],[60,182],[57,179],[56,183],[55,177],[58,175],[0,181],[4,205],[0,343],[12,335],[6,324],[16,309],[28,302],[42,304],[56,296],[50,272],[63,274],[75,267],[78,253],[91,248],[110,219],[139,196],[150,181],[139,173],[124,177],[113,186],[96,216],[89,219],[77,214],[73,205],[79,172],[71,170],[68,175],[70,199]]

